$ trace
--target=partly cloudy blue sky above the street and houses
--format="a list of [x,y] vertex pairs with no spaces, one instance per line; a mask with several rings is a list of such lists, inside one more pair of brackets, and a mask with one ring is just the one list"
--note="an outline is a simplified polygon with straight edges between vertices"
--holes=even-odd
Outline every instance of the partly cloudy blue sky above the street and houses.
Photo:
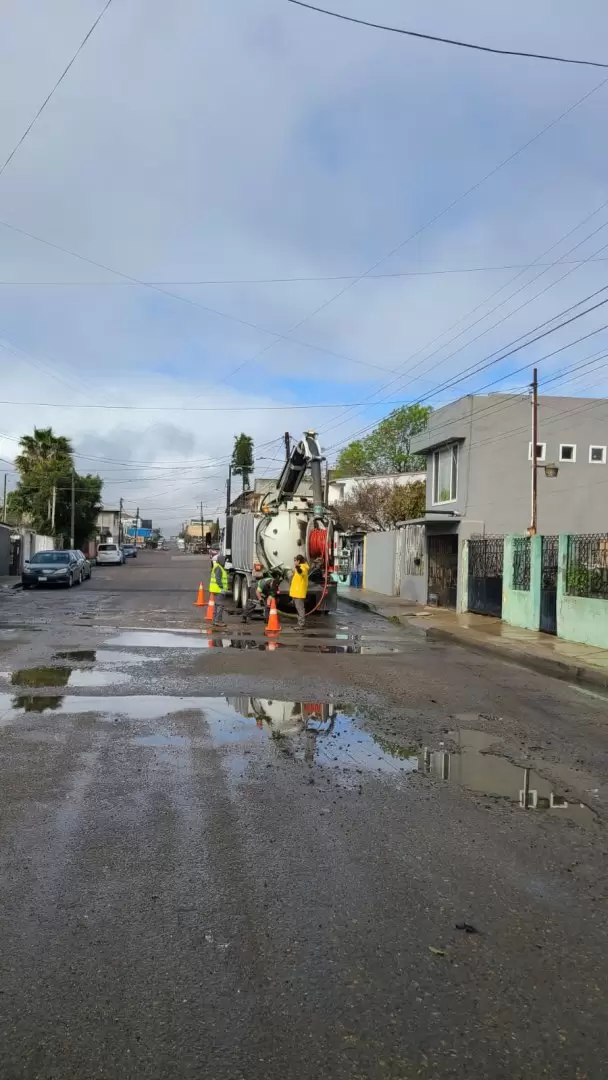
[[[103,6],[9,0],[0,168]],[[602,0],[325,6],[608,62]],[[52,426],[168,534],[221,515],[241,431],[267,477],[285,430],[333,460],[395,403],[523,390],[535,362],[541,393],[605,394],[608,305],[500,357],[607,282],[607,105],[608,70],[287,0],[113,0],[0,173],[9,487]]]

